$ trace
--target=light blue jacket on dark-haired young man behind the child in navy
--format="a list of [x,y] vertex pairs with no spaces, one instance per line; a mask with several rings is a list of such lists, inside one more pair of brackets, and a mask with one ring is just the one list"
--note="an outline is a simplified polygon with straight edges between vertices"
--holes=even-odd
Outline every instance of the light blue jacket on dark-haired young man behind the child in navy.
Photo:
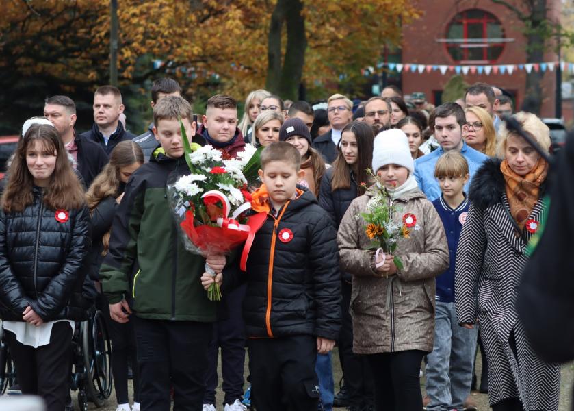
[[[445,151],[443,147],[432,151],[432,153],[423,155],[421,158],[415,160],[415,179],[421,188],[421,191],[425,193],[428,201],[434,201],[441,197],[441,188],[439,188],[439,182],[434,178],[434,166],[436,165],[436,160],[443,155]],[[480,151],[467,146],[466,142],[462,142],[462,149],[460,154],[464,155],[469,163],[469,174],[470,178],[467,184],[465,184],[465,192],[468,192],[472,176],[474,173],[480,169],[482,163],[488,159],[487,155],[482,154]]]

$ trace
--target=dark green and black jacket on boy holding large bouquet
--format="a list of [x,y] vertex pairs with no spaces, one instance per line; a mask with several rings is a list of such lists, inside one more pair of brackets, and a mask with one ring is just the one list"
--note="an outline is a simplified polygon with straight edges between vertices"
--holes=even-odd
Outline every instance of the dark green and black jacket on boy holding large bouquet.
[[183,247],[168,200],[168,182],[189,173],[183,157],[157,149],[129,179],[114,216],[103,292],[112,304],[125,297],[144,319],[216,321],[217,304],[200,282],[205,259]]

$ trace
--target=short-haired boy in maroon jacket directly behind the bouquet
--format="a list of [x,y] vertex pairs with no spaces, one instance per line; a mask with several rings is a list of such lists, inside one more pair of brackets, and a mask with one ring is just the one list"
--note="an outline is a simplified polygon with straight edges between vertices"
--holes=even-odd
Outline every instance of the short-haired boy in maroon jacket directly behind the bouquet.
[[237,128],[237,101],[233,97],[209,97],[202,121],[194,142],[212,145],[229,158],[244,150],[245,141]]

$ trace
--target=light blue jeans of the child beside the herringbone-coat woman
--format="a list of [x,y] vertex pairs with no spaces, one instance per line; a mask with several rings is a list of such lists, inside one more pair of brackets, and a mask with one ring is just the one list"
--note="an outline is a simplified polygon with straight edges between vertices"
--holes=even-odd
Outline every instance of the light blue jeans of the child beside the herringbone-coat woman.
[[477,326],[460,327],[454,303],[436,301],[434,349],[428,354],[428,411],[463,410],[470,393]]

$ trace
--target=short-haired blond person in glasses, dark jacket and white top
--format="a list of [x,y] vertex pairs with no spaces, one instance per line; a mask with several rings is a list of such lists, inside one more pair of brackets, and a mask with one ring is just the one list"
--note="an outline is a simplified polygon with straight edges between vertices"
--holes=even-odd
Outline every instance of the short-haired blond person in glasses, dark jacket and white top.
[[337,158],[337,146],[341,141],[343,128],[352,121],[353,102],[343,95],[335,94],[329,97],[327,106],[331,129],[315,138],[313,148],[323,155],[326,162],[331,164]]

